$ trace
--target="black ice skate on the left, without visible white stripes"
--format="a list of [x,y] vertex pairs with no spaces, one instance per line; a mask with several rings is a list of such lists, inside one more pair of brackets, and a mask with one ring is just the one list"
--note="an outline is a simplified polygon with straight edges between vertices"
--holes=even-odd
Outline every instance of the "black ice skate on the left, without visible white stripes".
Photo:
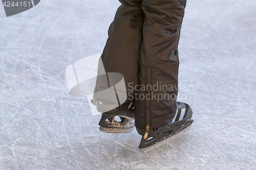
[[[96,106],[99,111],[101,105],[96,104]],[[134,115],[133,101],[122,104],[115,109],[102,113],[99,130],[106,133],[130,133],[134,129]]]

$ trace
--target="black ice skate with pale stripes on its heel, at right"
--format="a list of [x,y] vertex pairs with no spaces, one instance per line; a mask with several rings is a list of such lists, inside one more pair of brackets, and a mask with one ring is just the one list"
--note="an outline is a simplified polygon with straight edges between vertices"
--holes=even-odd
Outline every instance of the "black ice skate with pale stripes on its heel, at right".
[[187,104],[177,102],[176,115],[168,125],[156,129],[150,129],[150,126],[147,125],[147,130],[136,128],[137,132],[142,135],[140,151],[150,151],[187,132],[194,121],[191,119],[192,113]]

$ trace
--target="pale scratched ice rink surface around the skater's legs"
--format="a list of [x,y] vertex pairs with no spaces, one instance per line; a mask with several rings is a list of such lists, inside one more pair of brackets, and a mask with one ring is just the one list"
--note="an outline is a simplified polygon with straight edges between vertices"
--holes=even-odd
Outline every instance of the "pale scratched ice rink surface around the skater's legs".
[[65,77],[102,53],[119,5],[44,0],[11,17],[0,6],[0,169],[256,169],[256,1],[187,1],[179,99],[194,124],[146,154],[136,130],[100,132]]

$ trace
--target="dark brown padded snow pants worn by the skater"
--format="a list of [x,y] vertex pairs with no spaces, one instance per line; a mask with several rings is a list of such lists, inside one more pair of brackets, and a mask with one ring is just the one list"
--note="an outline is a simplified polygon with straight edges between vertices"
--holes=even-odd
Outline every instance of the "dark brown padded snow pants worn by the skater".
[[178,42],[186,0],[119,0],[101,55],[106,72],[123,75],[135,126],[155,129],[175,116]]

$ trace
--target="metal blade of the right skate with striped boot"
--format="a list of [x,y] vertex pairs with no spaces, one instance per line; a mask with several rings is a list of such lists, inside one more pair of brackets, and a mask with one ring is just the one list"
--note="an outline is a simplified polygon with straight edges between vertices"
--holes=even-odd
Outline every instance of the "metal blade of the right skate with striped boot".
[[168,141],[170,141],[170,140],[173,140],[173,139],[175,139],[176,137],[178,137],[178,136],[184,134],[185,132],[187,132],[187,131],[191,128],[191,126],[192,126],[192,124],[190,124],[187,128],[183,129],[183,130],[180,131],[179,133],[176,133],[175,135],[170,136],[170,137],[168,137],[167,139],[164,139],[164,140],[162,140],[162,141],[160,141],[160,142],[158,142],[158,143],[156,143],[156,144],[153,144],[153,145],[151,145],[150,147],[147,147],[147,148],[140,148],[140,152],[141,152],[141,153],[146,153],[146,152],[148,152],[148,151],[150,151],[150,150],[153,150],[153,149],[155,149],[155,148],[157,148],[157,147],[160,147],[160,145],[162,145],[162,144],[164,144],[164,143],[166,143],[166,142],[168,142]]

